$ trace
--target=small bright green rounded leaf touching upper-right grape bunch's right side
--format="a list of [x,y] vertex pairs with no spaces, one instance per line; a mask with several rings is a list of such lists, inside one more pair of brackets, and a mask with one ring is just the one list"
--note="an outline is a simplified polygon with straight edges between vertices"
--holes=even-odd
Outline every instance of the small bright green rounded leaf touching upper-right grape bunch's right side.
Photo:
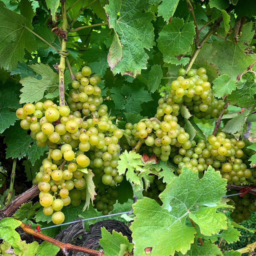
[[214,96],[217,98],[231,94],[232,91],[236,90],[235,81],[230,80],[230,76],[226,74],[219,76],[212,83],[212,91]]

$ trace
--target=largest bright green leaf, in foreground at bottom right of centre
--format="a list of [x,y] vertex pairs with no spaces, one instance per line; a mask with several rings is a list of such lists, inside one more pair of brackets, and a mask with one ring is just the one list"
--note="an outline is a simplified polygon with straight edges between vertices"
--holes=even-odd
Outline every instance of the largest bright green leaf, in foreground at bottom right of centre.
[[220,204],[226,185],[227,181],[212,167],[201,179],[198,179],[198,172],[183,167],[182,174],[159,195],[162,207],[150,198],[138,200],[133,204],[135,217],[130,227],[134,255],[142,255],[147,247],[152,247],[152,256],[173,255],[175,251],[185,254],[196,233],[194,227],[185,225],[187,217],[197,223],[204,235],[227,229],[226,216],[216,212],[217,208],[226,207]]

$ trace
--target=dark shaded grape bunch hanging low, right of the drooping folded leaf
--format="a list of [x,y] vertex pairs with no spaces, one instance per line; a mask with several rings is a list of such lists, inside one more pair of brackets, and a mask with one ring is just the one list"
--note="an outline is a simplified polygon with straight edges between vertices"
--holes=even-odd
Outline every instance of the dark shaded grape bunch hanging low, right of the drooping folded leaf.
[[106,188],[100,192],[97,191],[95,200],[93,200],[93,207],[98,211],[102,211],[103,215],[108,215],[114,209],[117,196],[116,186]]

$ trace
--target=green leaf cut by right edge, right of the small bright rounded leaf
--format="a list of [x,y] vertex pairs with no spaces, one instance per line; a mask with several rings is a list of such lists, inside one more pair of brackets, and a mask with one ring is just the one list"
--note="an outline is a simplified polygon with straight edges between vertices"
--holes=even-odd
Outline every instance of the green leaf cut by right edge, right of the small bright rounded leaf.
[[247,72],[243,75],[243,79],[246,79],[242,88],[237,88],[228,96],[229,103],[240,107],[250,107],[254,104],[254,94],[256,94],[256,82],[255,74]]

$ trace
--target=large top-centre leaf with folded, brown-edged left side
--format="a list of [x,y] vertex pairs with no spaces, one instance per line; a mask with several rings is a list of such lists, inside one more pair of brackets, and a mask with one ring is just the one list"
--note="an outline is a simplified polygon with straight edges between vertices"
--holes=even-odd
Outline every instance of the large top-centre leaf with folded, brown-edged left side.
[[[104,7],[108,25],[115,30],[122,45],[123,58],[120,61],[108,59],[113,74],[121,73],[136,77],[141,73],[141,69],[146,69],[149,57],[144,48],[149,50],[154,44],[154,28],[151,24],[154,14],[146,11],[148,7],[149,4],[145,0],[110,0]],[[144,9],[145,12],[142,13]],[[115,54],[112,51],[116,49],[117,41],[117,38],[113,39],[112,44],[115,47],[110,47],[109,55]],[[118,49],[120,59],[120,46]]]

